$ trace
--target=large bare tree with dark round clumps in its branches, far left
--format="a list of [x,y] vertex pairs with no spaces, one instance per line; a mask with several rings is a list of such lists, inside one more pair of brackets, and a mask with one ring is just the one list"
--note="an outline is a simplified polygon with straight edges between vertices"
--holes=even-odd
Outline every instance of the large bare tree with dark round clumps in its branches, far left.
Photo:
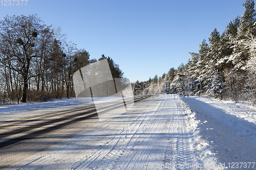
[[44,57],[54,36],[51,26],[41,22],[36,15],[6,16],[0,21],[0,62],[22,76],[22,102],[27,101],[29,80],[41,76],[45,70],[44,67],[35,70],[31,63]]

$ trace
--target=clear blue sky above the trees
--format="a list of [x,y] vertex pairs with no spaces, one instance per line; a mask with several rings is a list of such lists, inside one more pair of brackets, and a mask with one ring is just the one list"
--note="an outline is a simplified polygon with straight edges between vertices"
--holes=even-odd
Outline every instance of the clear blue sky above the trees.
[[113,58],[135,82],[185,64],[188,52],[198,52],[215,28],[222,33],[230,20],[242,16],[244,1],[28,0],[26,6],[0,4],[0,19],[37,14],[46,25],[60,26],[67,41],[91,58]]

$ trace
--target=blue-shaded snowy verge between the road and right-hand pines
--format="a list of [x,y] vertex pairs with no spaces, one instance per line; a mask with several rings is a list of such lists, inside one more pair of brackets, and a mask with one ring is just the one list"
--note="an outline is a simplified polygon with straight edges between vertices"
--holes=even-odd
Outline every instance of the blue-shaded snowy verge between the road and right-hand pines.
[[[246,167],[246,164],[256,160],[255,107],[200,96],[180,96],[180,99],[184,107],[191,111],[187,113],[188,126],[194,130],[197,125],[194,142],[199,145],[195,144],[195,147],[205,146],[209,151],[207,154],[216,157],[219,166],[225,165],[227,169],[234,169],[231,168],[233,164],[255,169],[255,165],[253,168],[252,165]],[[197,142],[199,136],[204,139],[205,145]]]

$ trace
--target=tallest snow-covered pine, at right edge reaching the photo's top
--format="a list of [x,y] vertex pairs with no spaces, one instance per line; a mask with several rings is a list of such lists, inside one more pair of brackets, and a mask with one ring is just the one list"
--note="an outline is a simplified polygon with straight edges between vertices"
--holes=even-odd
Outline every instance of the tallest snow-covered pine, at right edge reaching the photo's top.
[[231,82],[231,86],[229,86],[230,90],[232,90],[233,94],[236,94],[234,100],[239,100],[243,91],[243,85],[246,83],[246,79],[248,79],[246,63],[250,53],[247,45],[251,37],[254,37],[256,34],[254,25],[256,13],[254,5],[253,0],[246,0],[245,3],[243,3],[245,11],[240,18],[237,35],[230,39],[233,44],[233,46],[231,46],[233,52],[227,63],[231,62],[233,67],[228,74],[226,74],[226,77],[231,80],[229,81]]

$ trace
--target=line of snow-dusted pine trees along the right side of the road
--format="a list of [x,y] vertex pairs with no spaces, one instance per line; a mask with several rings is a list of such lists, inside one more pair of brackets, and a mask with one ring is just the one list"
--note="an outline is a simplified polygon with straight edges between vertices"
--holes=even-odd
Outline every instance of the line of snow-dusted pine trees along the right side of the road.
[[179,93],[210,95],[219,99],[248,100],[256,104],[256,13],[254,1],[246,0],[241,17],[231,20],[222,34],[215,28],[199,44],[197,53],[189,53],[184,65],[170,68],[134,84],[134,94]]

